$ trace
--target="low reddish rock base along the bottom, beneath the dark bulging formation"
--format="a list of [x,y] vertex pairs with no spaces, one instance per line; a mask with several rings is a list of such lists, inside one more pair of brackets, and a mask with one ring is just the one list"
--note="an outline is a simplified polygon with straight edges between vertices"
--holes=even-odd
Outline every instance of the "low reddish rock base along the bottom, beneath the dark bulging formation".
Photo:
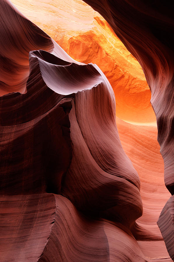
[[61,195],[2,196],[0,212],[1,261],[146,261],[128,229],[85,217]]

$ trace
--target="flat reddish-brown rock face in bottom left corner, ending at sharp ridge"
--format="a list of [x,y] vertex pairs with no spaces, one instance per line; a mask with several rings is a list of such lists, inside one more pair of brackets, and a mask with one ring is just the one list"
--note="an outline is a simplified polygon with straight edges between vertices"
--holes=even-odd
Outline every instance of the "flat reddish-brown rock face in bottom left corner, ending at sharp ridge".
[[55,222],[54,195],[1,196],[0,214],[1,261],[38,261]]

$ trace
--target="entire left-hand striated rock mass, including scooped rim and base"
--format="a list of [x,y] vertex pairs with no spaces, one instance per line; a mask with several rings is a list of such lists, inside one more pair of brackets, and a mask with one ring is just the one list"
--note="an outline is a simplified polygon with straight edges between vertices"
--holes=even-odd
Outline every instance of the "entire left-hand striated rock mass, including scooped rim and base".
[[119,140],[107,78],[10,2],[0,7],[1,56],[11,52],[8,68],[29,74],[17,76],[23,94],[14,93],[15,73],[2,81],[12,92],[0,98],[2,261],[147,261],[130,231],[142,215],[140,180]]

